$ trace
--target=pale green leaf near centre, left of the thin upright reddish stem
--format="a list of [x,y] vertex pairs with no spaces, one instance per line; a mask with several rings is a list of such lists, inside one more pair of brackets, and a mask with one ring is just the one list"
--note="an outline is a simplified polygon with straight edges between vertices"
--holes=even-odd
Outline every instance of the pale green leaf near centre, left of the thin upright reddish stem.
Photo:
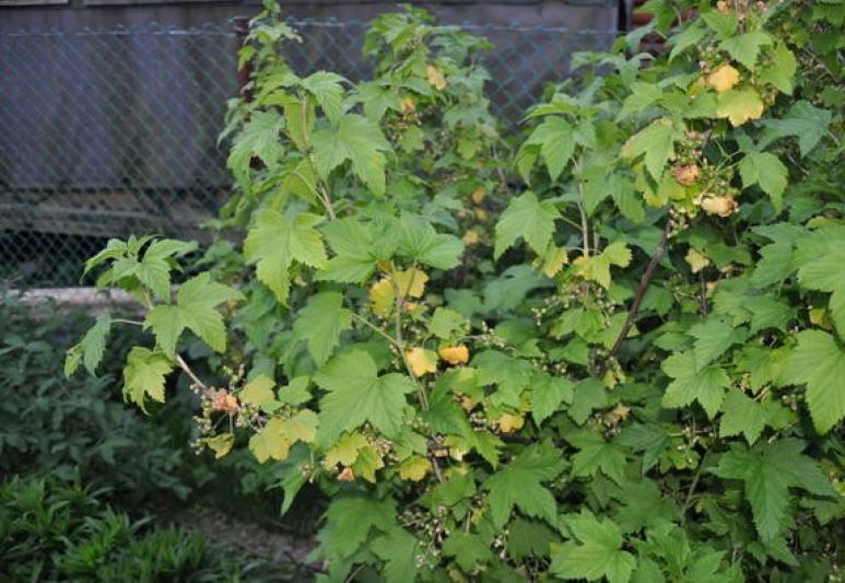
[[552,201],[540,202],[537,195],[531,191],[512,199],[496,223],[494,257],[496,259],[502,257],[502,254],[520,237],[535,253],[545,253],[552,240],[554,220],[558,217],[560,212]]

